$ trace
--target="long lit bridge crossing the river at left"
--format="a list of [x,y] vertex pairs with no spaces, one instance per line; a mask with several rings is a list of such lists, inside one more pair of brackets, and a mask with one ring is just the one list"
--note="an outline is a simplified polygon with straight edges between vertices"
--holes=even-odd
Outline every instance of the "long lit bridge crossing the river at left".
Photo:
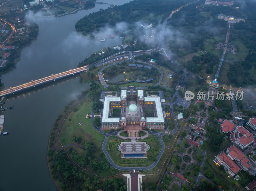
[[10,89],[0,92],[0,96],[7,95],[7,94],[10,94],[10,93],[14,93],[14,92],[18,92],[18,91],[21,91],[21,90],[24,90],[24,89],[27,89],[27,88],[30,88],[30,87],[33,87],[33,86],[36,87],[35,85],[37,85],[37,84],[44,84],[44,83],[50,82],[52,80],[55,81],[55,79],[70,76],[72,74],[74,75],[74,74],[76,74],[78,72],[81,72],[81,71],[84,71],[84,70],[88,70],[88,66],[84,66],[84,67],[77,68],[77,69],[71,69],[71,70],[68,70],[66,72],[61,72],[59,74],[52,74],[51,76],[44,77],[44,78],[41,78],[39,80],[32,80],[31,82],[28,82],[26,84],[22,84],[22,85],[19,85],[19,86],[16,86],[16,87],[10,87]]

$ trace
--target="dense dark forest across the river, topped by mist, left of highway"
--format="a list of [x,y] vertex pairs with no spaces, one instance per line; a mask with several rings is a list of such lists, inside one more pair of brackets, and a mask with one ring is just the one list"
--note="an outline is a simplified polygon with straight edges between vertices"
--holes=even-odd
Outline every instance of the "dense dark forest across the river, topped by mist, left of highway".
[[[161,22],[163,18],[170,14],[170,9],[173,10],[184,4],[184,2],[186,1],[131,1],[81,18],[76,23],[76,31],[88,35],[93,31],[99,31],[100,28],[107,25],[114,27],[120,22],[125,22],[130,32],[136,29],[134,23],[137,21],[143,21],[148,25],[152,23],[153,26],[156,26],[159,21]],[[121,31],[123,32],[123,29]]]

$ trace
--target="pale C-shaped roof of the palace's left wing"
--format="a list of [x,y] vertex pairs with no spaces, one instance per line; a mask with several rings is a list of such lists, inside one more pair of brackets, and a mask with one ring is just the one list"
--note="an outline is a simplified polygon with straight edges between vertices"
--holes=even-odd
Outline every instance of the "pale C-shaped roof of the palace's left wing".
[[102,114],[102,122],[103,123],[119,123],[120,117],[109,117],[109,108],[110,101],[120,101],[120,97],[105,97],[104,106],[103,106],[103,114]]

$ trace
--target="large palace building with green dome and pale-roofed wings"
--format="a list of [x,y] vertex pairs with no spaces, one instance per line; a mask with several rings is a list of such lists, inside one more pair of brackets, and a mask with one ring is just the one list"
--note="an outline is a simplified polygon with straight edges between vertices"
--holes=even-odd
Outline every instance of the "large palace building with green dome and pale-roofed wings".
[[[113,116],[115,109],[120,111],[120,117]],[[159,96],[144,97],[143,90],[121,90],[120,97],[104,97],[101,129],[124,129],[129,132],[131,129],[146,128],[164,129],[164,114]]]

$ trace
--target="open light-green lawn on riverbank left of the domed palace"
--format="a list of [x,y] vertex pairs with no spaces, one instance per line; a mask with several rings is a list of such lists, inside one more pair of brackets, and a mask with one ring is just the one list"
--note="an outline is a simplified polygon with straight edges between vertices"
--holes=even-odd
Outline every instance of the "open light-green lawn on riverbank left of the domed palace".
[[[60,142],[63,146],[76,144],[73,140],[73,136],[81,137],[81,142],[92,141],[96,146],[93,154],[98,158],[107,161],[101,150],[104,136],[92,127],[91,118],[86,119],[86,115],[91,113],[92,100],[85,96],[79,104],[76,106],[78,110],[75,112],[73,109],[68,115],[67,120],[64,121],[59,134]],[[82,122],[82,125],[78,124],[80,121]]]

